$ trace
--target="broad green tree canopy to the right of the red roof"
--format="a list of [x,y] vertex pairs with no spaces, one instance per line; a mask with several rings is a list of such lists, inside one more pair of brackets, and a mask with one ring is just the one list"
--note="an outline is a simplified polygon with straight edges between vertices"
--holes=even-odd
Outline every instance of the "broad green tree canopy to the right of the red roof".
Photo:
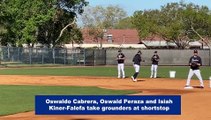
[[181,1],[168,3],[161,10],[136,11],[133,24],[142,39],[157,35],[184,49],[190,41],[201,39],[199,35],[210,37],[210,16],[206,6]]

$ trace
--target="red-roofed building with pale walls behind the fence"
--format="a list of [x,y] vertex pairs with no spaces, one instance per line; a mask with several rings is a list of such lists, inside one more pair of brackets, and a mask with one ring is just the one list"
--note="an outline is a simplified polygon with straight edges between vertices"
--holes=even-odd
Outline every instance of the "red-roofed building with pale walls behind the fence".
[[[147,37],[145,39],[140,39],[138,35],[138,31],[136,29],[106,29],[104,31],[104,38],[102,40],[103,47],[136,47],[136,48],[155,48],[155,47],[174,47],[176,48],[177,45],[172,42],[166,42],[163,40],[162,37],[152,35],[150,37]],[[83,38],[84,45],[83,47],[91,47],[91,46],[97,46],[99,45],[100,41],[98,43],[94,41],[93,37],[91,37],[88,34],[88,29],[83,29]],[[107,44],[107,45],[105,45]],[[142,46],[140,46],[142,45]],[[189,47],[192,46],[201,46],[201,43],[196,42],[190,42]]]

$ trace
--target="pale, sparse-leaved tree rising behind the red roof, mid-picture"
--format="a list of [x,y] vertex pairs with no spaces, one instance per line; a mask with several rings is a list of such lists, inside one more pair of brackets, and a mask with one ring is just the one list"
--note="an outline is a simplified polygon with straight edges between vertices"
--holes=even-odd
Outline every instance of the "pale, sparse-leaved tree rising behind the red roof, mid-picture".
[[87,7],[82,14],[82,22],[84,27],[98,26],[104,29],[114,28],[114,26],[122,19],[126,18],[127,14],[124,9],[116,6],[95,6]]

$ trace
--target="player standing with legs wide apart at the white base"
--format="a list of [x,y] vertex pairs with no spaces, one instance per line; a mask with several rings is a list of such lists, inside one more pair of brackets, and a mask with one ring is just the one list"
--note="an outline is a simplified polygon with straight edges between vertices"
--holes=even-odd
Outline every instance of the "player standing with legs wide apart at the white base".
[[195,74],[200,81],[200,88],[204,88],[204,83],[199,69],[199,67],[202,65],[202,61],[201,58],[198,56],[197,50],[194,50],[193,54],[194,55],[189,60],[190,70],[185,87],[190,87],[191,78]]

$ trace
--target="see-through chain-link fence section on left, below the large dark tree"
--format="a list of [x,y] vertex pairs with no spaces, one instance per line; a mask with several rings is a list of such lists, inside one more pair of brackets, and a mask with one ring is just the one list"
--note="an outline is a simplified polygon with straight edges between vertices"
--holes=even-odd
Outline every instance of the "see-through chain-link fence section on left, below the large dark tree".
[[105,65],[104,49],[1,47],[1,64]]

